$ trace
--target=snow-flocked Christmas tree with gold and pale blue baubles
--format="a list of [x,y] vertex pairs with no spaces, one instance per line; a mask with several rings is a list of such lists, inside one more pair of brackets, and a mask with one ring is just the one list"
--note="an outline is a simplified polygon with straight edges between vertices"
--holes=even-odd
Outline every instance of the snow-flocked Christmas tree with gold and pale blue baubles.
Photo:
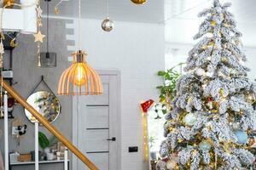
[[206,20],[194,39],[201,40],[189,52],[166,114],[160,156],[169,158],[167,169],[253,169],[256,85],[247,78],[230,5],[213,0],[199,14]]

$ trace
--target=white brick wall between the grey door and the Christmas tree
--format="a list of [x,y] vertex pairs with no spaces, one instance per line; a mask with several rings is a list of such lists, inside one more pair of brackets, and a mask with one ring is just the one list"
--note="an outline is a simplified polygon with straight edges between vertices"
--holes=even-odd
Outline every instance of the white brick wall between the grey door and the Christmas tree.
[[[113,32],[104,32],[101,22],[82,20],[81,48],[87,52],[87,61],[93,68],[121,71],[121,167],[148,170],[143,161],[139,104],[146,99],[158,99],[155,87],[161,82],[156,73],[165,67],[164,26],[115,22]],[[77,24],[76,21],[73,27],[78,28]],[[78,40],[77,29],[75,34]],[[138,146],[139,151],[128,153],[129,146]]]

